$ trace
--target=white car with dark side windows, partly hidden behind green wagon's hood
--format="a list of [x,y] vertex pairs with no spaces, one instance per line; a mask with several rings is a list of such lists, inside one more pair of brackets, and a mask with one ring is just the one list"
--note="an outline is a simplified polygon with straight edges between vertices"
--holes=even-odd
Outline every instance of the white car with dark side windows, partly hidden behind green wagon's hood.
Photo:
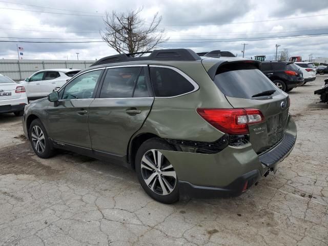
[[46,97],[55,88],[63,86],[80,69],[45,69],[33,73],[20,84],[25,87],[29,100]]

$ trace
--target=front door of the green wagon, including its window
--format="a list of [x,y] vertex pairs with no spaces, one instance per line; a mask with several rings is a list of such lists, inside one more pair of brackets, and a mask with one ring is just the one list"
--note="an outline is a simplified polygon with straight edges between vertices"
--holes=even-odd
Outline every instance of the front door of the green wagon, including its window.
[[59,102],[49,105],[47,130],[57,144],[91,148],[89,106],[103,71],[93,70],[74,78],[59,91]]

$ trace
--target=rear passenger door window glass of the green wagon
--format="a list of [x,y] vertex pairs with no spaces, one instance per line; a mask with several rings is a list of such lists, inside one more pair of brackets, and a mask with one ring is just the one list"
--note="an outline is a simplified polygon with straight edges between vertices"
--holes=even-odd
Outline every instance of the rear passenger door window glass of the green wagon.
[[100,98],[132,97],[140,67],[112,68],[107,71]]

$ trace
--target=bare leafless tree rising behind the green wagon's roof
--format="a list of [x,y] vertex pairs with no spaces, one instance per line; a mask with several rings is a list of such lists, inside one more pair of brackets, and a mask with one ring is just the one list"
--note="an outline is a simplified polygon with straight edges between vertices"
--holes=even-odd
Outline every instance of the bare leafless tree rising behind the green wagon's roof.
[[145,52],[169,39],[164,37],[165,29],[159,28],[162,17],[158,16],[158,12],[148,23],[140,18],[142,9],[126,13],[106,12],[106,30],[100,31],[100,35],[108,46],[118,53]]

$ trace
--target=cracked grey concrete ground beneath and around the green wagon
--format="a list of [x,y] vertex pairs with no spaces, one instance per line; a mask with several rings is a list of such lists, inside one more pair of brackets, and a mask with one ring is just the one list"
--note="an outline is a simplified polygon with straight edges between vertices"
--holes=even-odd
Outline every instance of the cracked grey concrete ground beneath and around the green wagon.
[[20,119],[0,115],[0,245],[327,245],[328,105],[313,94],[323,79],[290,92],[291,155],[236,198],[158,203],[125,168],[36,157]]

